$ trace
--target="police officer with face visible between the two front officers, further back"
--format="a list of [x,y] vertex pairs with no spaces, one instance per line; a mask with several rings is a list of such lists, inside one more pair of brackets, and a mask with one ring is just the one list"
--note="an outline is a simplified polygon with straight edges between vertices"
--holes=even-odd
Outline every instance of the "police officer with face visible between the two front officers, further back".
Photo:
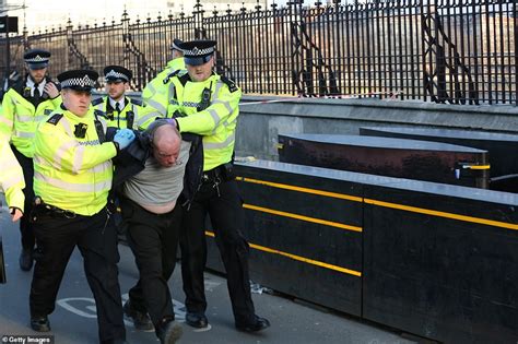
[[132,76],[133,73],[121,66],[104,69],[108,96],[92,100],[92,105],[106,114],[108,127],[137,129],[139,116],[146,115],[141,100],[125,95]]

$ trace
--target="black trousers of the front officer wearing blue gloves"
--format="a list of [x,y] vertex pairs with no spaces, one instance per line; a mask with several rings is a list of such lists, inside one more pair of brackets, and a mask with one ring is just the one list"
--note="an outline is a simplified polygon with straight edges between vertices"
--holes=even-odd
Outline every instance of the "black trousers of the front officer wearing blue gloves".
[[35,206],[31,220],[38,241],[31,285],[31,317],[46,317],[54,311],[64,269],[78,247],[95,298],[101,342],[125,340],[117,270],[117,234],[114,227],[106,227],[106,210],[92,216],[71,216]]

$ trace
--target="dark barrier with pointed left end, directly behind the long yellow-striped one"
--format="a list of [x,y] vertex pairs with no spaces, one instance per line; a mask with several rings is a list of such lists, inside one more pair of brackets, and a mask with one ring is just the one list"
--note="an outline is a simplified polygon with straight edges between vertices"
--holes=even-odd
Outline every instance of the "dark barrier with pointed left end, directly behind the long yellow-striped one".
[[448,143],[343,134],[279,134],[282,163],[488,188],[487,151]]

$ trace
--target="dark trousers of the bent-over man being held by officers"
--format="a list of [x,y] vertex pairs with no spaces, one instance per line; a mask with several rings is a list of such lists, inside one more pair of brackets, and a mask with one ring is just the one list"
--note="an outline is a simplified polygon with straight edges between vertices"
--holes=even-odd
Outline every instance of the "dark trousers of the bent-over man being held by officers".
[[128,225],[128,244],[140,273],[137,285],[129,290],[131,307],[148,312],[157,329],[162,319],[175,318],[167,281],[176,264],[181,206],[154,214],[121,197],[120,207]]

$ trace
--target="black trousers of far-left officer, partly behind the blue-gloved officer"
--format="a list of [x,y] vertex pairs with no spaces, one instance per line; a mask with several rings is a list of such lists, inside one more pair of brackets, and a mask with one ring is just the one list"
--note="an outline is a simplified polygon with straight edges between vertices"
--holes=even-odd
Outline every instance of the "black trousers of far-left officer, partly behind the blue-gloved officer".
[[[31,214],[33,209],[33,201],[34,201],[34,188],[33,188],[33,179],[34,179],[34,166],[33,159],[26,157],[22,153],[20,153],[14,145],[11,145],[11,149],[16,157],[20,166],[23,169],[23,179],[25,180],[25,189],[23,189],[23,194],[25,195],[25,202],[23,204],[24,214]],[[33,225],[28,221],[30,216],[22,216],[20,218],[20,232],[22,236],[22,247],[25,250],[33,250],[35,245],[35,237]]]

